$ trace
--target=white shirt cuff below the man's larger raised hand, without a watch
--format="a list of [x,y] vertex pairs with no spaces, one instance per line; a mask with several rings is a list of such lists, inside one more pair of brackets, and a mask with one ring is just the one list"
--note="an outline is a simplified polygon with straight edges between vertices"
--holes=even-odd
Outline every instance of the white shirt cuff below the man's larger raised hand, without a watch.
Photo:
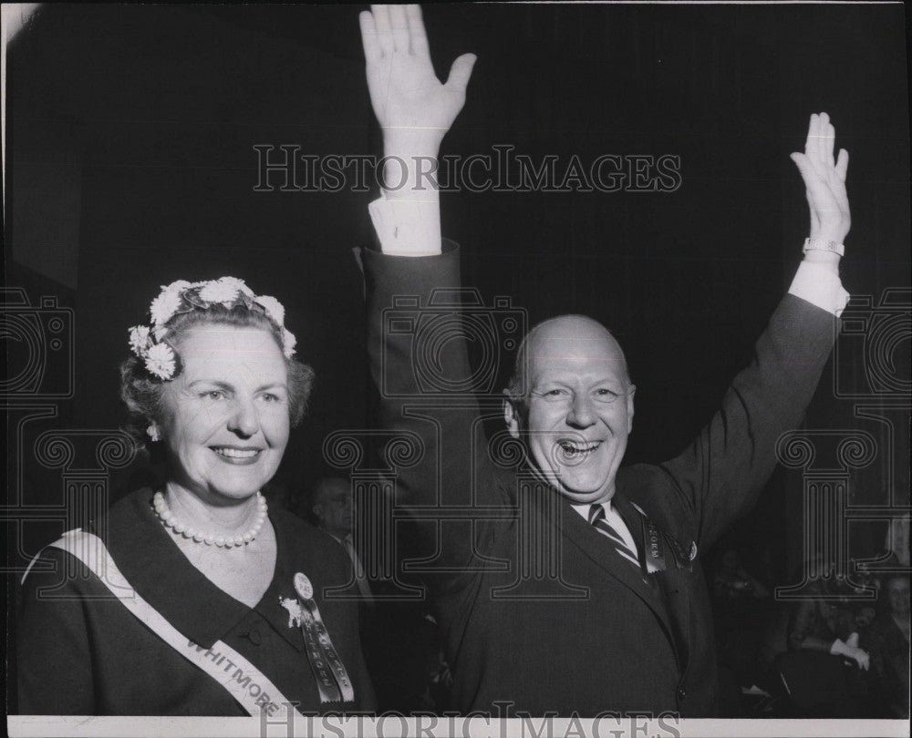
[[386,192],[368,205],[384,253],[429,256],[442,251],[440,200],[388,200]]

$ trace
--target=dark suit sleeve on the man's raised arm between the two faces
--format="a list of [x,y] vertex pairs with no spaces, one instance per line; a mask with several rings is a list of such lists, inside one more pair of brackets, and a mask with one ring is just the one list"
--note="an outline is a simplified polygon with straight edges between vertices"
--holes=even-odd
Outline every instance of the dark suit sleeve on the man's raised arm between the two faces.
[[[378,392],[379,425],[394,434],[420,439],[417,463],[397,469],[397,503],[416,507],[467,507],[503,505],[504,493],[495,482],[480,422],[480,411],[471,392],[441,396],[419,384],[417,362],[425,362],[435,377],[435,386],[465,386],[472,376],[463,333],[454,325],[459,311],[426,310],[434,290],[461,287],[458,247],[445,242],[444,251],[424,257],[393,256],[364,250],[368,309],[368,357],[370,373]],[[418,306],[407,308],[411,328],[397,331],[396,315],[390,313],[398,298],[416,298]],[[412,304],[415,304],[412,302]],[[422,322],[442,316],[440,330]],[[389,330],[393,329],[393,330]],[[395,334],[394,334],[395,333]],[[470,513],[471,517],[471,513]],[[490,534],[483,523],[447,522],[438,537],[436,526],[424,528],[438,546],[435,567],[459,574],[474,556],[477,542]],[[462,526],[462,528],[460,528]],[[436,540],[440,538],[439,541]]]

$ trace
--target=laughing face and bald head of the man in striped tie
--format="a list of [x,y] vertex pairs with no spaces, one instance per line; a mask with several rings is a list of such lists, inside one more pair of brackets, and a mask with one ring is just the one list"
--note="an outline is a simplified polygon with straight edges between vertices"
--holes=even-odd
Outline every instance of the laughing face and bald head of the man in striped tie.
[[633,427],[636,387],[617,341],[591,318],[541,323],[524,346],[525,404],[504,403],[513,437],[534,466],[575,504],[610,499]]

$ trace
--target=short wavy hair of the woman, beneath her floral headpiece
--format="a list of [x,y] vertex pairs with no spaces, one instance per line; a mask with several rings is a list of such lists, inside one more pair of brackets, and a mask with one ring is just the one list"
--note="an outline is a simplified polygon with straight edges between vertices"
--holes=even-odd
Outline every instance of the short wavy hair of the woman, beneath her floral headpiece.
[[[177,357],[177,368],[174,376],[181,373],[181,356],[177,344],[192,328],[200,325],[229,325],[235,328],[259,328],[269,331],[275,343],[282,350],[282,328],[265,313],[258,313],[244,305],[226,308],[213,304],[206,310],[194,309],[178,313],[166,324],[168,333],[165,342],[171,346]],[[291,426],[301,424],[307,410],[307,400],[314,384],[314,370],[295,358],[285,359],[288,366],[288,416]],[[170,381],[170,380],[169,380]],[[130,355],[120,364],[120,398],[130,415],[124,430],[137,443],[140,449],[146,449],[153,456],[155,447],[148,446],[149,436],[146,429],[156,422],[161,415],[161,402],[167,381],[149,373],[144,362],[137,356]]]

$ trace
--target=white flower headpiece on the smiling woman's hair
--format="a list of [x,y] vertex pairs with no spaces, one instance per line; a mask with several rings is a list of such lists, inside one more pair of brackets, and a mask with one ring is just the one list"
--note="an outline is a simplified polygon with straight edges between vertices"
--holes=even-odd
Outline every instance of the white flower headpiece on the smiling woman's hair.
[[282,331],[282,353],[286,359],[295,354],[294,333],[285,329],[285,308],[267,294],[255,295],[244,280],[222,277],[208,282],[178,280],[161,288],[159,296],[149,306],[151,326],[134,325],[130,328],[130,351],[142,359],[147,371],[165,381],[177,373],[178,357],[174,349],[164,342],[168,334],[167,323],[175,315],[192,310],[209,310],[212,305],[222,305],[231,310],[244,305],[247,310],[263,313]]

